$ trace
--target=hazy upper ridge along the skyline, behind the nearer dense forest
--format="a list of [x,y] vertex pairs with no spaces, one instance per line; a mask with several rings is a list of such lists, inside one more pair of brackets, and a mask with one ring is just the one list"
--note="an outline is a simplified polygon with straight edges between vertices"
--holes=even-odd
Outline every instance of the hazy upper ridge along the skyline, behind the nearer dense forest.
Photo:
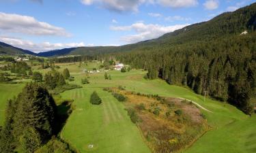
[[240,8],[235,12],[226,12],[208,22],[192,24],[183,29],[167,33],[158,39],[142,41],[137,44],[109,47],[81,47],[42,52],[41,56],[56,56],[63,54],[94,55],[110,52],[129,52],[132,50],[154,50],[176,44],[186,44],[190,41],[208,41],[229,35],[240,35],[244,31],[253,31],[256,27],[256,3]]

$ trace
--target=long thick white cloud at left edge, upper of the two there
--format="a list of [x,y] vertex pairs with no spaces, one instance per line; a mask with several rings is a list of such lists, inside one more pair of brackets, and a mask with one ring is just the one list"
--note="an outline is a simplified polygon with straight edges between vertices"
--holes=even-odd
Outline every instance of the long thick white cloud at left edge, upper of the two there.
[[29,35],[70,36],[65,29],[55,27],[46,22],[40,22],[31,16],[5,14],[3,12],[0,12],[0,30],[12,33],[25,33]]

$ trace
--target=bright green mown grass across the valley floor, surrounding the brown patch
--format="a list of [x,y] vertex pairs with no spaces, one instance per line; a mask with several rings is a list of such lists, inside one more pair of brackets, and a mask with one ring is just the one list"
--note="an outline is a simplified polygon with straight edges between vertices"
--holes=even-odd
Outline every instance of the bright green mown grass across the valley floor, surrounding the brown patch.
[[[99,63],[88,63],[79,67],[79,63],[61,64],[64,68],[70,69],[74,76],[74,84],[81,85],[81,78],[85,77],[83,69],[98,67]],[[38,70],[45,73],[49,69]],[[195,101],[211,112],[201,109],[205,114],[208,124],[212,130],[205,133],[193,146],[184,150],[187,153],[221,152],[221,153],[253,153],[256,152],[256,116],[248,117],[240,110],[227,103],[221,103],[212,99],[203,101],[201,95],[180,86],[170,86],[162,80],[144,80],[146,71],[132,70],[126,73],[120,71],[108,71],[112,80],[104,80],[104,72],[89,74],[90,84],[83,85],[83,88],[63,92],[64,99],[74,99],[76,109],[61,132],[61,137],[70,142],[79,152],[150,152],[144,143],[137,126],[132,124],[128,118],[124,105],[119,103],[104,87],[123,86],[126,90],[141,92],[145,94],[158,94],[164,97],[181,97]],[[0,109],[3,117],[3,110],[6,99],[12,98],[20,84],[0,84]],[[5,89],[7,88],[7,89]],[[89,95],[96,90],[103,100],[99,106],[90,105]],[[0,120],[0,124],[3,120]],[[94,148],[88,148],[94,144]]]

